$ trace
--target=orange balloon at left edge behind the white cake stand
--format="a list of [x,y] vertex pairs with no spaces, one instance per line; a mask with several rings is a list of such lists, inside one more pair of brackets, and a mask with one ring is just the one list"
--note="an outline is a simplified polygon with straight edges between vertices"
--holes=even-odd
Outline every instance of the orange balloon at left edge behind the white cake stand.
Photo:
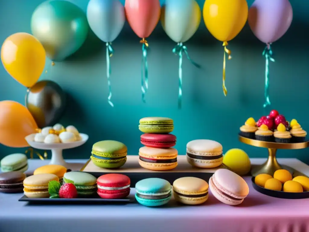
[[0,143],[13,148],[29,147],[27,135],[36,133],[29,110],[15,101],[0,101]]

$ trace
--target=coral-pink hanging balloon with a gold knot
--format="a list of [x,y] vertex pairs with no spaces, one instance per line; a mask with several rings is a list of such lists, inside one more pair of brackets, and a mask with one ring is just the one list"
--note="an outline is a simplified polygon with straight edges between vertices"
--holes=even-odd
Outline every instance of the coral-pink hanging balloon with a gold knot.
[[132,30],[140,38],[147,38],[160,19],[159,0],[125,0],[125,14]]

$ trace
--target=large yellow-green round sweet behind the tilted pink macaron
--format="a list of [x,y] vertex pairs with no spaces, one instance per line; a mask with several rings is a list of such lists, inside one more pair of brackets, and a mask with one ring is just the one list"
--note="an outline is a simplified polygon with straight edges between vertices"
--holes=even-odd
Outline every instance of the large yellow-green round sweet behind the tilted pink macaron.
[[251,169],[251,162],[247,153],[238,148],[230,149],[225,153],[223,164],[240,176],[248,174]]

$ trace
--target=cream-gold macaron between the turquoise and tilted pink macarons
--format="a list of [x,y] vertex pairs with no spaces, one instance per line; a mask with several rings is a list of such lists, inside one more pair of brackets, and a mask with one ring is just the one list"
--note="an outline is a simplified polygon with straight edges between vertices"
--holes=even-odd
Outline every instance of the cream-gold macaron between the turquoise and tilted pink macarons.
[[200,178],[181,177],[173,183],[174,198],[183,204],[203,204],[208,199],[208,187]]

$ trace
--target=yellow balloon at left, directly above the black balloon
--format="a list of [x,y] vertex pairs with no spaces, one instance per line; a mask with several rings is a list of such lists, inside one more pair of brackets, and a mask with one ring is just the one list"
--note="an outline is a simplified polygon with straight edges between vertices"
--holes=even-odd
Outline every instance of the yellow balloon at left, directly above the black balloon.
[[46,53],[36,37],[19,32],[6,38],[1,61],[6,71],[20,84],[32,87],[44,71]]

